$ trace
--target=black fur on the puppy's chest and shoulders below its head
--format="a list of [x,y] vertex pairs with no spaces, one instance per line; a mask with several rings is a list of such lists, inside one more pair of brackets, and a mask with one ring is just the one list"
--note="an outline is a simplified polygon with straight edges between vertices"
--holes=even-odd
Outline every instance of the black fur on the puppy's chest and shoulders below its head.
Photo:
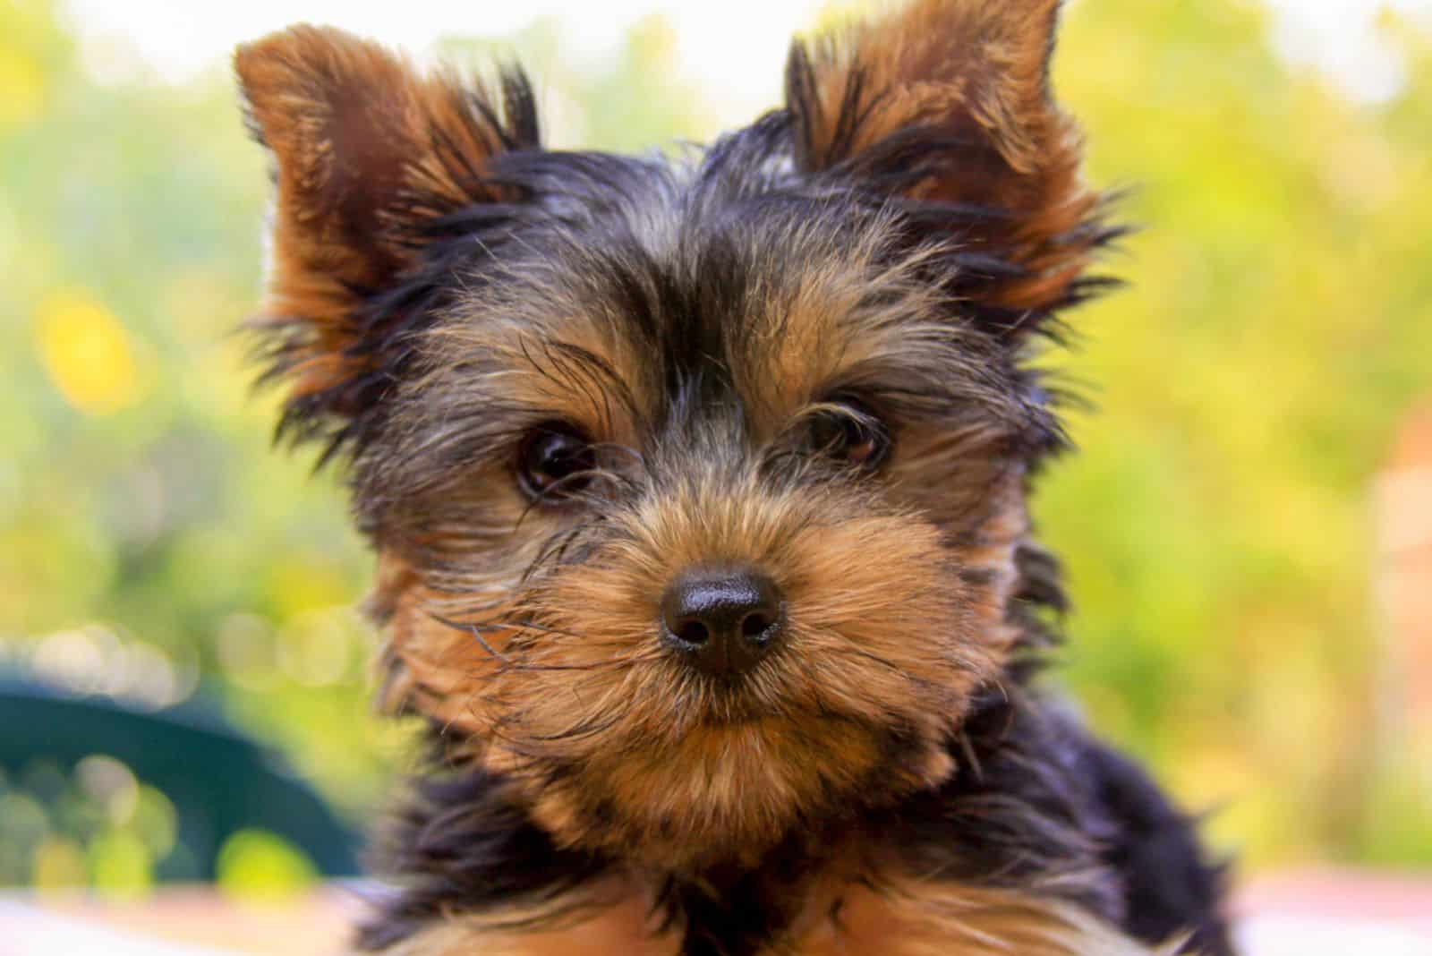
[[[434,741],[442,753],[441,731]],[[1219,913],[1224,870],[1204,857],[1189,817],[1058,704],[991,693],[957,746],[968,769],[938,790],[811,821],[758,867],[669,874],[660,923],[683,940],[683,956],[755,956],[795,916],[802,877],[821,869],[828,836],[856,831],[934,879],[1032,887],[1148,943],[1191,930],[1186,952],[1232,956]],[[558,907],[620,867],[553,846],[504,781],[480,769],[435,770],[415,787],[378,859],[397,892],[364,927],[362,949],[391,946],[438,914]],[[881,874],[866,882],[879,886]]]

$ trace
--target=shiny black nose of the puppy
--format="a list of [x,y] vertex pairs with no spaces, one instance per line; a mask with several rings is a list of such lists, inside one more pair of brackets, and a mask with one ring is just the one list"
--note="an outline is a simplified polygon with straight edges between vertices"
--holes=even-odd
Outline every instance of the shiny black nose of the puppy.
[[662,597],[662,640],[707,674],[749,671],[783,623],[776,582],[753,570],[687,571]]

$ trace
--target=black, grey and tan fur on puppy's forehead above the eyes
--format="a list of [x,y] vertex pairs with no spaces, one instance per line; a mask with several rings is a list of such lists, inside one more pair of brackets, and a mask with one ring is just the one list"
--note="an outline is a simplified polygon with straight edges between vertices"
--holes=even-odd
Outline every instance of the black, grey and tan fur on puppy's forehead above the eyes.
[[[517,160],[504,169],[521,182]],[[463,275],[412,339],[417,374],[390,395],[402,469],[431,481],[544,419],[650,447],[702,408],[729,408],[763,442],[842,394],[911,424],[1057,444],[1035,378],[931,283],[942,246],[906,249],[895,216],[843,199],[766,195],[709,223],[663,192],[632,196],[634,223],[530,225],[520,249],[484,239],[501,263]]]

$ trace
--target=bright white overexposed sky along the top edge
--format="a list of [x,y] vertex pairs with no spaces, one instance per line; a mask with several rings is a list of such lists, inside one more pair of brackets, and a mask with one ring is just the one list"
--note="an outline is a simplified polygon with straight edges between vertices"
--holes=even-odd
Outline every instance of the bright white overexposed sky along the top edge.
[[[1378,11],[1432,16],[1432,0],[1266,1],[1277,10],[1277,44],[1287,57],[1316,63],[1355,96],[1373,100],[1400,82],[1396,57],[1378,40]],[[116,50],[132,50],[170,80],[219,66],[236,43],[299,20],[332,23],[421,57],[444,34],[503,36],[554,16],[576,56],[601,57],[633,21],[663,13],[676,29],[687,79],[702,84],[717,119],[740,122],[773,103],[789,37],[822,6],[822,0],[69,0],[66,9],[96,73],[129,72],[130,57]]]

